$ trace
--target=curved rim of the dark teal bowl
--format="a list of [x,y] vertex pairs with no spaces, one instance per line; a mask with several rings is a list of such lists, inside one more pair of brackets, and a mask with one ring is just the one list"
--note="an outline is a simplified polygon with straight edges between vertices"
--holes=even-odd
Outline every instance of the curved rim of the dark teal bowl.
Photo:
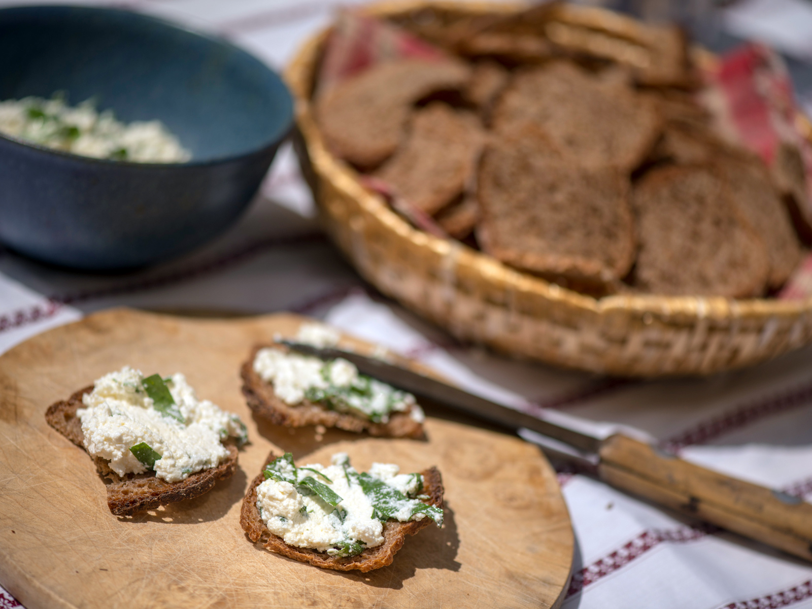
[[[150,15],[149,13],[142,13],[140,11],[132,11],[127,8],[122,8],[120,6],[91,6],[91,5],[82,5],[82,4],[34,4],[34,5],[18,5],[18,6],[2,6],[0,7],[0,21],[2,21],[3,15],[11,13],[11,12],[37,12],[37,11],[45,11],[45,10],[58,10],[58,11],[84,11],[85,13],[98,13],[98,14],[114,14],[117,13],[119,15],[130,15],[135,19],[143,19],[145,21],[151,21],[153,24],[158,24],[163,27],[179,30],[181,32],[186,32],[191,34],[192,36],[204,38],[206,41],[214,45],[221,45],[226,47],[231,51],[235,51],[238,54],[244,54],[248,58],[253,59],[253,61],[259,63],[262,67],[266,69],[270,73],[270,75],[279,81],[281,85],[280,91],[284,93],[283,95],[283,106],[284,107],[284,120],[280,121],[280,127],[274,130],[274,136],[270,138],[266,143],[257,146],[252,149],[248,149],[245,152],[239,154],[231,154],[222,157],[215,157],[215,158],[208,158],[203,159],[201,161],[195,161],[194,158],[187,162],[138,162],[138,161],[119,161],[116,159],[111,158],[97,158],[97,157],[88,157],[84,156],[83,154],[76,154],[67,152],[65,150],[59,150],[55,148],[50,148],[45,145],[38,144],[37,142],[33,142],[31,140],[25,140],[21,137],[9,136],[3,132],[0,132],[0,140],[10,142],[12,145],[19,145],[26,149],[34,149],[42,153],[47,153],[54,155],[58,158],[65,158],[70,161],[75,162],[89,162],[91,164],[100,164],[102,166],[115,166],[115,167],[149,167],[150,169],[179,169],[180,167],[205,167],[205,166],[213,166],[213,165],[221,165],[226,164],[228,162],[233,162],[242,158],[248,158],[253,155],[265,153],[269,149],[273,149],[281,142],[286,140],[292,133],[294,128],[294,108],[293,108],[293,95],[290,88],[287,86],[287,83],[283,79],[283,77],[279,74],[278,71],[274,70],[274,68],[270,67],[267,63],[262,61],[253,53],[248,52],[248,50],[244,49],[239,45],[235,45],[233,42],[227,40],[227,38],[217,36],[216,34],[205,32],[202,30],[198,30],[196,28],[189,27],[187,24],[181,24],[179,22],[171,21],[170,19],[165,19],[163,17],[158,17],[156,15]],[[0,102],[6,100],[0,100]]]

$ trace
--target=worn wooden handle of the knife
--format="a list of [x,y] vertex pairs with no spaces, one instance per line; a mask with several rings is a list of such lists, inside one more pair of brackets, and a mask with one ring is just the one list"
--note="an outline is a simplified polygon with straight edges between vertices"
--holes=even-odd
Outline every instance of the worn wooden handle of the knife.
[[812,504],[614,435],[599,451],[611,486],[812,560]]

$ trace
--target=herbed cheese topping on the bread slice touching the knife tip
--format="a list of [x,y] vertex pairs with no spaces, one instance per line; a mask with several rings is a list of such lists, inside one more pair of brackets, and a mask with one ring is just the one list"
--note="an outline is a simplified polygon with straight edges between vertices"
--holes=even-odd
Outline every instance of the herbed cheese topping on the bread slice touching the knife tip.
[[274,385],[274,393],[286,404],[300,404],[306,398],[374,423],[386,423],[392,412],[411,411],[417,421],[422,419],[414,395],[359,374],[355,365],[341,358],[323,361],[264,348],[257,352],[253,369],[263,381]]

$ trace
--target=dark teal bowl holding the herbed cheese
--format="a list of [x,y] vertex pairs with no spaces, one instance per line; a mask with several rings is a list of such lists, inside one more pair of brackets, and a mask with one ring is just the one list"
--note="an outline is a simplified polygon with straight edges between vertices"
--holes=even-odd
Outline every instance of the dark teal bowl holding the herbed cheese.
[[77,269],[145,266],[217,235],[292,127],[279,76],[225,41],[107,8],[0,10],[0,100],[58,91],[127,123],[161,120],[192,151],[118,162],[0,135],[0,241]]

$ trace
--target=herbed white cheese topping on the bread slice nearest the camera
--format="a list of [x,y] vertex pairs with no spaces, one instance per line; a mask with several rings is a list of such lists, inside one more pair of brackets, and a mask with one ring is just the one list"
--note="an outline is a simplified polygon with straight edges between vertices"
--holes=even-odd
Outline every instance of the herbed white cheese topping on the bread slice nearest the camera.
[[266,469],[266,481],[257,487],[257,508],[270,532],[288,545],[354,556],[383,543],[387,520],[429,517],[443,525],[443,510],[417,499],[421,474],[399,474],[397,465],[381,463],[358,473],[343,452],[331,463],[297,468],[288,452]]

